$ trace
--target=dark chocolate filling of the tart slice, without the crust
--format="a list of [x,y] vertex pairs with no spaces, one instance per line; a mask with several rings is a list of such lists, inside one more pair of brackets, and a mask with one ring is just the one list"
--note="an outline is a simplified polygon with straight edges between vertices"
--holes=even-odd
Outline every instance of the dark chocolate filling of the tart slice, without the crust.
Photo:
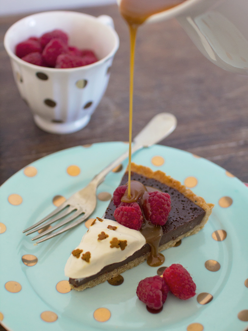
[[[128,175],[125,174],[120,185],[125,185],[127,180]],[[131,173],[131,180],[139,181],[145,186],[150,186],[155,188],[156,190],[169,193],[169,195],[171,196],[171,212],[169,214],[169,218],[166,224],[162,226],[163,235],[160,240],[159,246],[164,245],[171,240],[175,240],[177,237],[193,229],[201,222],[202,218],[205,216],[205,211],[201,207],[197,206],[191,200],[187,199],[179,191],[163,183],[160,183],[155,179],[147,178],[136,173]],[[115,221],[115,209],[116,207],[113,203],[113,200],[111,200],[109,206],[106,209],[104,218],[108,218]],[[126,263],[147,254],[148,252],[150,252],[150,250],[150,245],[145,244],[140,250],[136,251],[132,256],[128,257],[124,261],[119,263],[113,263],[112,265],[106,265],[104,268],[102,268],[101,271],[89,277],[80,279],[69,278],[69,283],[74,287],[81,286],[88,281],[97,278],[101,274],[113,271],[119,266],[125,265]]]

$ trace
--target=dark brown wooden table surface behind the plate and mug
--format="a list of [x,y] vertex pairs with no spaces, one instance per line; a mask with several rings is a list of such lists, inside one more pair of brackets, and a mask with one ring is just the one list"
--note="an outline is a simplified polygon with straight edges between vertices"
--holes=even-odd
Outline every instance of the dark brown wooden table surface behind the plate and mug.
[[[15,85],[3,37],[10,25],[26,15],[0,18],[0,185],[29,163],[64,148],[128,140],[127,26],[116,5],[76,10],[112,16],[120,49],[107,91],[90,123],[66,135],[36,127]],[[175,19],[139,29],[133,135],[161,112],[173,113],[178,119],[177,129],[162,145],[207,158],[248,182],[248,77],[206,60]]]

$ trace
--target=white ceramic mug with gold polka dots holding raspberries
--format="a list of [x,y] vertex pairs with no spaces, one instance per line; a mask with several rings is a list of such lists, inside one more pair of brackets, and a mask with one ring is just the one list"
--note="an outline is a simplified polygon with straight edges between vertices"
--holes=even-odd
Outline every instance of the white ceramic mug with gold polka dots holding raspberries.
[[[50,68],[30,64],[15,55],[18,43],[55,29],[67,33],[69,45],[94,51],[99,61],[75,68]],[[49,11],[14,23],[5,34],[4,47],[20,95],[32,110],[36,125],[44,131],[63,134],[76,132],[89,123],[107,88],[119,37],[110,16]]]

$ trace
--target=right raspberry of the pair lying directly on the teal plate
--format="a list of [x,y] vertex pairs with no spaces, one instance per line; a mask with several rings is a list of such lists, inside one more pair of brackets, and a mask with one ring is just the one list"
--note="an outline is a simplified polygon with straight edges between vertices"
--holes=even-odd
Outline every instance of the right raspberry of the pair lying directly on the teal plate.
[[179,299],[187,300],[195,295],[196,285],[183,265],[173,264],[166,268],[163,279]]

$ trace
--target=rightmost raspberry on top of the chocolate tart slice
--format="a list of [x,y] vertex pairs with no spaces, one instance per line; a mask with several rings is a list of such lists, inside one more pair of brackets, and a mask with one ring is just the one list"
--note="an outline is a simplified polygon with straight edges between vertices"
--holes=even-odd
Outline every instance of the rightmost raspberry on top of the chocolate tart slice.
[[144,193],[143,212],[155,225],[164,225],[171,211],[171,198],[168,193],[154,191]]

